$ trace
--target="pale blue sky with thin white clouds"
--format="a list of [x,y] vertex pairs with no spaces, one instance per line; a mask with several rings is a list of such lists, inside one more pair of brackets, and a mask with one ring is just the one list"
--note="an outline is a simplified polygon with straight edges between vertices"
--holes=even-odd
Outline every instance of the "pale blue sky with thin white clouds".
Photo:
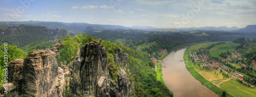
[[0,21],[203,27],[256,24],[255,0],[1,0]]

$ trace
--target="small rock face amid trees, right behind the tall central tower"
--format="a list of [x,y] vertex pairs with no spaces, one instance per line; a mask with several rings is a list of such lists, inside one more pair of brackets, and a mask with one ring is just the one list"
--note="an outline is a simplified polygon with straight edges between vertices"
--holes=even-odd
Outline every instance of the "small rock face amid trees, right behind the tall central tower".
[[126,62],[129,59],[128,55],[126,53],[123,53],[121,48],[119,48],[118,50],[115,50],[114,58],[115,58],[114,59],[115,63],[117,63],[122,68],[126,67]]

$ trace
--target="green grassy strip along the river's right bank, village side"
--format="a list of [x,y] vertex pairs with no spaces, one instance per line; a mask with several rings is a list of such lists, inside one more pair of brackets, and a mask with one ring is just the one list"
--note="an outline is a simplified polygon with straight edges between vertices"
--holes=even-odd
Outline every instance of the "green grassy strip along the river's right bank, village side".
[[[193,67],[193,63],[194,62],[190,62],[189,57],[188,57],[188,48],[185,50],[184,52],[184,56],[183,59],[185,61],[186,64],[186,69],[187,71],[197,80],[199,80],[203,85],[205,85],[207,88],[209,88],[210,90],[214,91],[216,94],[218,94],[219,96],[222,96],[222,89],[215,86],[214,84],[212,84],[211,82],[209,82],[208,80],[206,80],[204,77],[202,77]],[[196,63],[196,62],[195,62]],[[232,96],[231,94],[227,93],[226,96]]]

